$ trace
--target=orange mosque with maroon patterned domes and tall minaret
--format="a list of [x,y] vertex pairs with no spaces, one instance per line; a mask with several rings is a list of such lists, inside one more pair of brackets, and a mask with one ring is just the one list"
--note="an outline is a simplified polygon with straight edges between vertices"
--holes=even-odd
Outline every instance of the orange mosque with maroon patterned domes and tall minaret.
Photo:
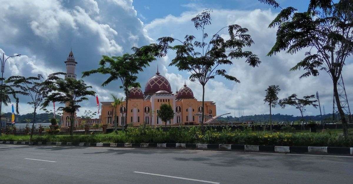
[[[71,77],[76,79],[76,65],[78,64],[73,57],[72,51],[69,53],[66,61],[65,78]],[[196,125],[201,122],[201,118],[196,113],[202,113],[202,101],[195,99],[193,91],[184,84],[183,87],[172,92],[172,88],[168,80],[157,72],[145,84],[144,92],[140,88],[131,88],[128,96],[128,107],[125,101],[117,107],[118,125],[125,125],[125,117],[127,123],[133,123],[134,126],[142,125],[163,125],[164,122],[157,116],[158,109],[162,103],[169,103],[174,111],[174,118],[167,122],[170,125]],[[101,115],[99,119],[93,122],[108,124],[113,126],[114,108],[112,102],[101,102]],[[216,115],[216,103],[213,101],[205,101],[205,115],[213,117]],[[78,126],[80,118],[74,115],[74,126]],[[204,120],[206,121],[206,120]],[[63,112],[61,116],[61,126],[70,126],[69,114]]]

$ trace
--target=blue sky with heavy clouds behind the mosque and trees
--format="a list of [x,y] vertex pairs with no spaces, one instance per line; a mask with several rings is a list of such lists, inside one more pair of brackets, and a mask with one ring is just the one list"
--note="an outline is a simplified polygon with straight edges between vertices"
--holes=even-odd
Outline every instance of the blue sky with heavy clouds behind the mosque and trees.
[[[5,77],[10,75],[32,76],[41,73],[65,71],[64,61],[72,51],[78,62],[76,73],[80,78],[82,71],[97,68],[102,55],[119,56],[131,52],[133,46],[154,43],[163,36],[184,38],[193,34],[199,38],[191,23],[193,18],[205,8],[212,8],[212,25],[206,28],[209,35],[220,27],[239,24],[249,29],[254,40],[248,50],[259,56],[262,63],[258,68],[250,68],[243,59],[234,60],[226,66],[228,74],[237,77],[241,83],[235,84],[216,77],[206,86],[205,100],[215,101],[217,114],[234,112],[244,108],[245,115],[269,113],[268,105],[263,103],[264,90],[268,85],[280,85],[280,98],[293,93],[298,96],[320,93],[321,105],[326,113],[332,112],[332,84],[330,77],[321,73],[318,77],[299,80],[303,71],[291,72],[289,69],[300,61],[304,51],[295,55],[284,52],[268,57],[267,52],[275,42],[276,29],[268,28],[279,9],[273,9],[257,0],[2,0],[0,6],[0,53],[10,56],[20,53],[23,56],[9,59],[5,66]],[[293,6],[305,11],[307,0],[279,0],[281,6]],[[226,36],[226,32],[221,32]],[[144,88],[148,78],[154,75],[157,65],[160,72],[172,86],[180,88],[184,80],[193,90],[195,97],[201,99],[202,88],[188,80],[190,74],[168,66],[174,57],[170,52],[164,58],[152,62],[149,68],[138,75],[138,82]],[[343,70],[348,99],[353,88],[352,57]],[[97,91],[101,101],[110,101],[109,94],[122,96],[118,81],[102,88],[100,84],[107,76],[96,75],[84,78]],[[21,97],[20,113],[32,112],[26,104],[28,98]],[[95,99],[82,104],[84,110],[96,110]],[[5,107],[5,111],[10,111]],[[79,112],[79,115],[80,115]],[[273,113],[299,115],[297,109],[288,107],[273,109]],[[319,114],[318,109],[307,108],[307,115]]]

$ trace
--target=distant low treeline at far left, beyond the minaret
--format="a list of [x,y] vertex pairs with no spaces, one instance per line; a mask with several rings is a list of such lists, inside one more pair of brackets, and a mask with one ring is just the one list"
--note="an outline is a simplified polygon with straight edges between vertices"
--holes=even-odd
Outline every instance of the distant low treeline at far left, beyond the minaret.
[[[11,118],[11,113],[4,113],[2,114],[2,117],[4,118]],[[44,123],[44,122],[50,122],[49,120],[53,118],[53,113],[41,113],[41,114],[36,114],[36,122],[37,123]],[[59,115],[56,115],[56,119],[60,119]],[[33,113],[28,113],[28,114],[15,114],[15,121],[16,123],[27,123],[27,121],[33,120]]]

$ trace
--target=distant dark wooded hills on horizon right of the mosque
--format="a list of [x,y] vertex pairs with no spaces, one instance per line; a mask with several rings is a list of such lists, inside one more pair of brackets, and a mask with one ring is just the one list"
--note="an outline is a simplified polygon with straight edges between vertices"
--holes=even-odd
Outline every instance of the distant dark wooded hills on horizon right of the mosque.
[[[332,120],[332,114],[322,115],[324,121]],[[240,116],[240,122],[246,121],[255,121],[255,122],[268,122],[270,119],[270,114],[255,114],[249,116]],[[219,117],[217,120],[222,120],[226,122],[239,122],[239,117],[227,116]],[[305,121],[321,121],[321,115],[316,116],[304,116]],[[272,121],[301,121],[301,116],[294,116],[288,114],[273,114]]]

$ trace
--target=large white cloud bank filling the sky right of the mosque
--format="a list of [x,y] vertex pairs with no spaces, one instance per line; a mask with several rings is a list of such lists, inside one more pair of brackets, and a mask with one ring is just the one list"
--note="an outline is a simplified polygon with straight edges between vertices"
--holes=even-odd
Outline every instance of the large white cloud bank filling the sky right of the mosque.
[[[188,11],[180,16],[167,15],[158,18],[145,25],[149,36],[156,40],[159,37],[173,35],[174,38],[183,40],[185,34],[195,35],[200,38],[202,34],[196,31],[191,23],[191,18],[199,11]],[[230,9],[214,9],[211,13],[212,25],[206,27],[209,35],[214,34],[223,26],[239,24],[249,29],[255,44],[250,48],[244,48],[257,54],[262,63],[258,68],[252,68],[245,63],[245,59],[234,60],[233,65],[225,66],[229,75],[237,77],[241,83],[229,82],[221,77],[211,80],[205,87],[205,100],[215,101],[217,104],[217,114],[237,112],[238,107],[244,108],[245,115],[269,113],[267,104],[264,104],[265,89],[268,85],[280,85],[282,89],[279,97],[284,98],[293,93],[299,97],[315,94],[318,90],[321,94],[321,106],[326,106],[326,113],[331,113],[332,109],[332,82],[330,77],[324,72],[319,77],[308,77],[299,80],[303,71],[289,71],[298,61],[304,57],[304,51],[295,55],[288,55],[281,52],[275,56],[268,57],[267,52],[275,42],[276,29],[268,28],[269,23],[275,18],[276,13],[271,10],[255,9],[253,11],[237,11]],[[227,30],[221,31],[220,35],[227,38]],[[168,58],[175,57],[173,52],[168,53]],[[169,61],[170,62],[170,61]],[[164,63],[168,65],[169,63]],[[347,79],[352,82],[353,75],[348,73],[353,64],[347,65],[344,71]],[[172,88],[182,87],[184,80],[188,81],[189,75],[179,72],[174,68],[165,71],[166,78],[172,84]],[[193,90],[198,100],[202,99],[202,87],[190,82],[188,86]],[[173,89],[175,90],[175,89]],[[347,93],[352,91],[348,86]],[[348,97],[349,98],[349,97]],[[273,109],[273,113],[299,115],[299,111],[292,107]],[[237,113],[238,114],[238,113]],[[307,108],[306,115],[319,114],[318,109]]]

